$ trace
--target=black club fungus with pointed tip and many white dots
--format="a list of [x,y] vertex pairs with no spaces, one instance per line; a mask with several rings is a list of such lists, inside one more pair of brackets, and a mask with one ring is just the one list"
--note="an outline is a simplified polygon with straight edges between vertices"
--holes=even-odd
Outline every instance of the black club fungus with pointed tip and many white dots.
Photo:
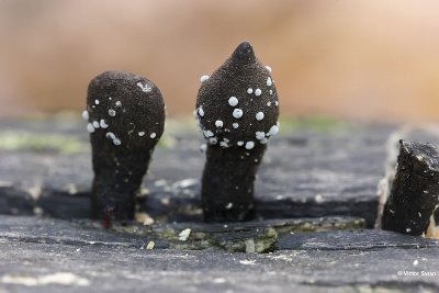
[[254,181],[268,139],[279,131],[279,102],[271,72],[249,43],[202,82],[194,115],[207,145],[204,219],[251,219]]

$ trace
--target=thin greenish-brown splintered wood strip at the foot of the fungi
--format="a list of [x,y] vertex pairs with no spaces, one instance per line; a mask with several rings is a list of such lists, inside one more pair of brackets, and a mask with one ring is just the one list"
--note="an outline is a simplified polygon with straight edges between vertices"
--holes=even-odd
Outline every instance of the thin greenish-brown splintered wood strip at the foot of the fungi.
[[[99,227],[99,224],[81,221],[82,226]],[[158,244],[157,248],[187,250],[226,250],[229,252],[268,252],[274,250],[279,237],[294,233],[364,227],[362,218],[320,217],[297,219],[270,219],[243,223],[201,224],[171,223],[144,226],[140,224],[114,223],[111,230],[144,236]],[[188,237],[181,240],[181,233]]]

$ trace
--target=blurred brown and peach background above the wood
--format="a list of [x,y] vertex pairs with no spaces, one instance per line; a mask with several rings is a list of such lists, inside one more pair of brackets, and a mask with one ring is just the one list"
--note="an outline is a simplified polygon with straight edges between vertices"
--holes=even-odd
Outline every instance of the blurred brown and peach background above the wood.
[[283,115],[439,120],[438,1],[0,0],[0,116],[82,110],[108,69],[143,75],[170,115],[241,41]]

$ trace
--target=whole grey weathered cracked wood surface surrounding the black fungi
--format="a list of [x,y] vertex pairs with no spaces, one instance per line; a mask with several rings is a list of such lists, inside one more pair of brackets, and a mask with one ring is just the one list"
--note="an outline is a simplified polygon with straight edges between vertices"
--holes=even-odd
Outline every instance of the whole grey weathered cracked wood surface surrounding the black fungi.
[[[224,232],[201,223],[204,155],[195,134],[168,132],[156,149],[142,204],[154,224],[142,234],[87,224],[92,172],[82,124],[63,119],[0,125],[0,142],[33,135],[24,143],[12,139],[15,148],[0,143],[1,293],[439,290],[438,240],[347,225],[351,216],[368,227],[374,224],[393,127],[299,129],[273,139],[256,185],[258,218],[239,228],[251,237],[259,228],[274,228],[277,237],[270,252],[245,253],[168,249],[158,240],[154,249],[140,249],[154,227]],[[31,144],[47,135],[50,139]],[[401,136],[439,142],[432,131]],[[331,216],[346,225],[333,225]],[[302,229],[293,229],[297,225]]]

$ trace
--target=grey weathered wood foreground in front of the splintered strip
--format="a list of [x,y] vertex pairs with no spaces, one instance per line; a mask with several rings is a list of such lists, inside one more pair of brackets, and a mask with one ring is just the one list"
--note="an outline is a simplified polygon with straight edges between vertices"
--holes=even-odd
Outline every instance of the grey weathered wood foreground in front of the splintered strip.
[[[140,249],[145,237],[0,217],[7,292],[417,292],[439,290],[439,245],[385,230],[285,236],[272,253]],[[288,240],[286,240],[288,239]],[[398,272],[401,275],[398,275]],[[404,272],[418,275],[405,277]],[[437,272],[439,273],[439,272]]]

